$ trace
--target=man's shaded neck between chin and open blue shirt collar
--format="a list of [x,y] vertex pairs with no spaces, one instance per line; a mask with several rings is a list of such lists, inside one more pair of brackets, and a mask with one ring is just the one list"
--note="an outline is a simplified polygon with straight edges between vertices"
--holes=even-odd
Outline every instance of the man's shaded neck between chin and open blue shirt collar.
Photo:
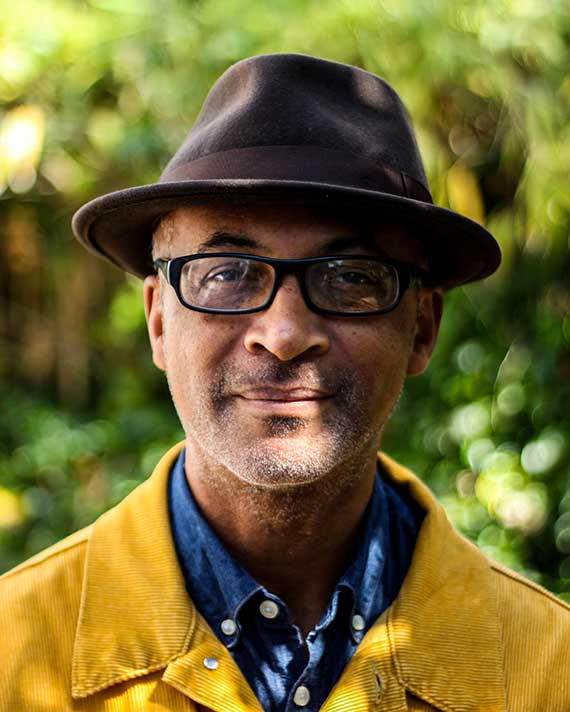
[[203,515],[236,561],[289,606],[303,635],[350,562],[375,456],[341,469],[316,482],[262,488],[208,467],[187,445],[186,478]]

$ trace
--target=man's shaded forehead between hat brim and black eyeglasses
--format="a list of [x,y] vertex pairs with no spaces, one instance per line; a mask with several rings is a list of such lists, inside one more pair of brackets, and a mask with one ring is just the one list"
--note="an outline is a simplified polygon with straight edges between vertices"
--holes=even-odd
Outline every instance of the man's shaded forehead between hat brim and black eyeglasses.
[[[283,204],[178,208],[165,215],[155,230],[154,252],[164,258],[193,254],[214,235],[246,238],[252,243],[247,251],[254,248],[265,256],[311,257],[330,254],[329,248],[336,246],[344,252],[365,249],[396,260],[427,263],[421,242],[401,224]],[[236,249],[229,240],[228,247]]]

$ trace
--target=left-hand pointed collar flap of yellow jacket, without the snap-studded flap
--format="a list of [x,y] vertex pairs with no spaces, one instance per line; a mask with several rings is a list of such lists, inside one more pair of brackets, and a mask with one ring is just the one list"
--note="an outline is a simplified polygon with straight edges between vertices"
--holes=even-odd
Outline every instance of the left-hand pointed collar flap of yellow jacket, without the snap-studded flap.
[[72,694],[86,697],[159,670],[196,627],[170,533],[167,481],[180,446],[93,525],[75,639]]

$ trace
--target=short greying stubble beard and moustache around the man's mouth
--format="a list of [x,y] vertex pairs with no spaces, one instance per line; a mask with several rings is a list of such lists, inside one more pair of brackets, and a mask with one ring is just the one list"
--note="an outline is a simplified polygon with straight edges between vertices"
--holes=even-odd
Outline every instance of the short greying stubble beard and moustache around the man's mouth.
[[[349,369],[337,370],[328,382],[307,364],[275,364],[256,374],[260,384],[293,380],[335,394],[336,407],[325,413],[322,435],[313,438],[312,447],[309,437],[303,438],[310,422],[293,416],[269,416],[264,422],[266,436],[244,442],[236,398],[231,395],[244,379],[228,366],[220,369],[216,382],[203,396],[205,402],[196,404],[199,412],[213,414],[207,426],[196,428],[194,423],[186,423],[187,435],[208,460],[253,488],[290,489],[321,480],[333,495],[333,490],[339,492],[362,477],[366,462],[379,447],[382,427],[392,408],[381,426],[373,427],[371,414],[363,406],[367,402],[364,387]],[[286,440],[290,442],[283,447]],[[238,447],[232,448],[232,441],[239,443]]]

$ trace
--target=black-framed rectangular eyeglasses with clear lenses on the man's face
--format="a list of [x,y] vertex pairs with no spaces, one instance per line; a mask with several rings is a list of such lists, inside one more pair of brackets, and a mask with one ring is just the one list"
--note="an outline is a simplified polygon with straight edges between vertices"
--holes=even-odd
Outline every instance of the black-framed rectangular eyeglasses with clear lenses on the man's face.
[[406,289],[420,284],[418,270],[382,257],[342,255],[278,260],[214,252],[154,262],[188,309],[251,314],[267,309],[286,274],[295,274],[309,309],[331,316],[386,314]]

